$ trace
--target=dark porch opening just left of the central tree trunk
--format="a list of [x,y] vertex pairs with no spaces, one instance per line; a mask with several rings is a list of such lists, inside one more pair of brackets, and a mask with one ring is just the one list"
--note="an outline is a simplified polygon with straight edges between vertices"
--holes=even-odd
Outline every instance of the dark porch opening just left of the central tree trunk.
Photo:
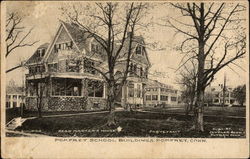
[[88,96],[89,97],[103,97],[104,84],[101,81],[88,81]]

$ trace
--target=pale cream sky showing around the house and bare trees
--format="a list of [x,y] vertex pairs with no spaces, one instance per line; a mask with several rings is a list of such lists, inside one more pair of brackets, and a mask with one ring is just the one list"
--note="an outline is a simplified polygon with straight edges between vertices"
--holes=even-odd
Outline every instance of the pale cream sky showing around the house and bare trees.
[[[6,68],[11,68],[20,63],[22,60],[27,60],[36,50],[36,48],[46,42],[51,42],[59,27],[59,19],[61,19],[61,12],[59,7],[60,2],[42,2],[42,1],[23,1],[23,2],[11,2],[7,1],[8,11],[18,11],[24,16],[23,24],[28,28],[33,28],[29,40],[39,40],[32,47],[25,47],[15,50],[6,59]],[[163,12],[164,11],[164,12]],[[153,15],[152,21],[158,21],[163,16],[173,16],[175,13],[173,10],[166,10],[165,5],[157,6],[150,10],[150,15]],[[151,17],[152,18],[152,17]],[[180,38],[175,36],[173,29],[167,27],[151,27],[146,32],[136,33],[142,34],[145,41],[148,43],[158,42],[163,46],[164,50],[152,50],[148,49],[148,55],[152,64],[150,68],[149,78],[159,80],[160,82],[179,87],[176,82],[178,73],[174,69],[179,67],[182,56],[179,52],[172,49]],[[242,59],[237,64],[246,68],[247,60]],[[218,85],[223,82],[224,75],[227,77],[228,85],[236,86],[246,83],[247,73],[242,69],[231,66],[234,71],[229,68],[222,69],[216,76],[212,85]],[[245,69],[246,70],[246,69]],[[6,75],[7,82],[14,80],[18,85],[23,83],[24,74],[27,73],[25,69],[20,68]],[[164,76],[162,75],[164,74]]]

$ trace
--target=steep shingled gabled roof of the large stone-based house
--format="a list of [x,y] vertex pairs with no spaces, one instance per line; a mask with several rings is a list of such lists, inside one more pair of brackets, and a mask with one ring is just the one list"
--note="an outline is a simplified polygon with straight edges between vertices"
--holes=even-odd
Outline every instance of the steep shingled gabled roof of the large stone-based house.
[[[55,35],[55,38],[53,40],[53,42],[51,43],[51,45],[49,46],[48,43],[46,43],[46,45],[44,45],[44,47],[46,47],[46,55],[45,55],[45,60],[49,60],[49,61],[53,61],[53,59],[57,58],[57,54],[54,53],[54,55],[51,56],[51,51],[53,49],[53,44],[56,40],[56,37],[59,36],[60,34],[60,30],[62,28],[65,28],[66,32],[69,34],[70,38],[73,40],[73,43],[76,45],[77,49],[80,51],[80,53],[84,52],[85,56],[87,58],[95,58],[95,59],[100,59],[100,60],[105,60],[106,59],[106,54],[98,54],[98,53],[93,53],[91,52],[91,50],[89,49],[89,47],[86,47],[89,45],[90,38],[93,38],[93,36],[91,36],[90,33],[88,33],[87,31],[81,29],[79,26],[77,26],[76,24],[73,23],[66,23],[64,21],[60,21],[61,25],[57,31],[57,34]],[[144,64],[150,64],[149,60],[148,60],[148,55],[146,52],[145,57],[143,56],[138,56],[136,54],[134,54],[134,50],[137,47],[138,44],[142,44],[144,45],[144,39],[142,36],[134,36],[133,42],[132,42],[132,54],[131,54],[131,59],[139,61],[141,63]],[[100,45],[100,44],[99,44]],[[49,47],[48,47],[49,46]],[[41,45],[40,47],[43,47],[43,45]],[[115,45],[114,46],[114,53],[118,50],[119,45]],[[129,48],[129,39],[126,38],[125,42],[124,42],[124,46],[118,56],[118,59],[123,60],[126,59],[126,55],[128,53],[128,48]],[[48,59],[48,57],[52,58],[52,59]],[[33,54],[33,56],[27,61],[27,64],[30,63],[37,63],[37,62],[41,62],[43,58],[40,58],[37,56],[36,53]]]

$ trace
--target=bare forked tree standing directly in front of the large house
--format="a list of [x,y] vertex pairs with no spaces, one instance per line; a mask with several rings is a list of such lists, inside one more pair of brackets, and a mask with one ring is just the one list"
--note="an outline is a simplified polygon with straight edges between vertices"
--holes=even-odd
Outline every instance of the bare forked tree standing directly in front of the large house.
[[[130,57],[134,33],[143,26],[140,23],[145,14],[147,4],[144,3],[95,3],[77,4],[63,7],[62,11],[73,24],[87,31],[90,37],[99,43],[105,54],[105,61],[92,68],[100,73],[107,83],[108,109],[110,120],[108,125],[115,124],[114,102],[129,73]],[[127,36],[128,35],[128,36]],[[125,45],[127,47],[125,48]],[[126,49],[126,54],[124,53]],[[116,72],[124,56],[125,69]],[[103,65],[106,67],[103,67]]]

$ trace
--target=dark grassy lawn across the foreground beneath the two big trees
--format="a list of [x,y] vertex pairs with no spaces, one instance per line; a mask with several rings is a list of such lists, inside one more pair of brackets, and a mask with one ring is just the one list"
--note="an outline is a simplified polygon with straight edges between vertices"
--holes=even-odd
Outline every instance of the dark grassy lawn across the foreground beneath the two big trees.
[[16,130],[60,137],[218,137],[213,134],[229,130],[226,134],[240,132],[230,137],[245,137],[244,119],[205,117],[205,131],[196,133],[189,130],[191,116],[121,111],[116,112],[117,126],[108,127],[107,115],[36,118],[25,121]]

